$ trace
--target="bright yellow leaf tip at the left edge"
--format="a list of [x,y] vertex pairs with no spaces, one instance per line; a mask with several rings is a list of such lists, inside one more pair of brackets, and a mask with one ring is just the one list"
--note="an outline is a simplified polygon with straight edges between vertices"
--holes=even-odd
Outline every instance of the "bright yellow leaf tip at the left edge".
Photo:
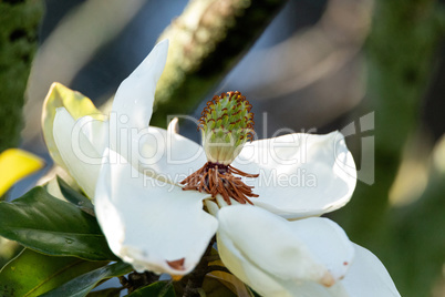
[[19,148],[0,154],[0,196],[15,182],[43,167],[43,160]]

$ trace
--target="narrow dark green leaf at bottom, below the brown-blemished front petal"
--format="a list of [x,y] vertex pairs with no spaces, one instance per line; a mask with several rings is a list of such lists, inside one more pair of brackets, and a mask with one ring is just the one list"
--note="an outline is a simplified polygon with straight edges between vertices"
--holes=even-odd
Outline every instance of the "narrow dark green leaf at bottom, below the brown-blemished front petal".
[[133,270],[132,266],[118,262],[71,279],[66,284],[45,293],[45,297],[83,297],[89,294],[101,280],[126,275]]

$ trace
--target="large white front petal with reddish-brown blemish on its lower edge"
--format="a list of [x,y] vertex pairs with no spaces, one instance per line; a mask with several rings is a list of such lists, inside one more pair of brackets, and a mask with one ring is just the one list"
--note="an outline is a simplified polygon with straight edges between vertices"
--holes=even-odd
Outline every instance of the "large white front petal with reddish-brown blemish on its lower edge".
[[145,176],[107,153],[94,208],[113,253],[139,272],[189,273],[218,226],[203,211],[207,195]]

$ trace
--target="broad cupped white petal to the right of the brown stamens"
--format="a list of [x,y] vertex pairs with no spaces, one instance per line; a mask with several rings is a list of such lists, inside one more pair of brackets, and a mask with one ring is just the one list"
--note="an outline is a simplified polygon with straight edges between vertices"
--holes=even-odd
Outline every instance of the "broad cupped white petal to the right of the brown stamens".
[[286,218],[321,215],[349,202],[356,183],[356,170],[340,132],[327,135],[303,133],[247,143],[232,163],[255,186],[252,198]]

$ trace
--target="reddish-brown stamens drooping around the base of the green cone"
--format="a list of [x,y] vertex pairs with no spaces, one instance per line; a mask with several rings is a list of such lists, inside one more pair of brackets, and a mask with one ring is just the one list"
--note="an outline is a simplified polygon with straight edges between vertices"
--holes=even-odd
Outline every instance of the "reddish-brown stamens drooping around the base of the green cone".
[[184,191],[195,190],[211,194],[216,197],[220,194],[227,204],[231,204],[230,198],[236,199],[241,204],[253,203],[248,197],[258,197],[253,194],[252,186],[242,183],[241,177],[258,177],[259,174],[248,174],[231,165],[207,162],[201,168],[190,174],[180,184],[185,185]]

